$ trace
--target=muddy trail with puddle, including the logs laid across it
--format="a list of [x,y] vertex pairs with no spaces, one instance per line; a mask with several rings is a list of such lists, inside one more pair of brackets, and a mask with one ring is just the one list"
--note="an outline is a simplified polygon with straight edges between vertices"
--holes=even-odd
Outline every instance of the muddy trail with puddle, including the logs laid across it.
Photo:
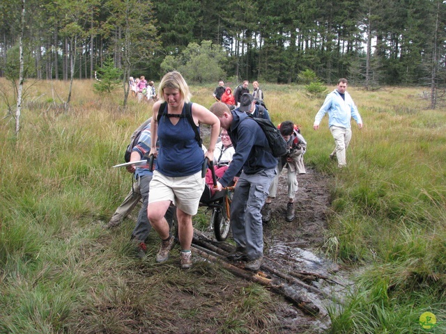
[[330,328],[327,308],[342,303],[351,282],[348,272],[323,254],[330,210],[328,178],[307,168],[298,182],[296,216],[287,222],[286,169],[282,171],[271,220],[263,224],[264,263],[258,274],[244,271],[243,262],[227,261],[225,255],[233,246],[216,241],[210,229],[194,234],[194,253],[280,296],[276,309],[280,333],[323,333]]

